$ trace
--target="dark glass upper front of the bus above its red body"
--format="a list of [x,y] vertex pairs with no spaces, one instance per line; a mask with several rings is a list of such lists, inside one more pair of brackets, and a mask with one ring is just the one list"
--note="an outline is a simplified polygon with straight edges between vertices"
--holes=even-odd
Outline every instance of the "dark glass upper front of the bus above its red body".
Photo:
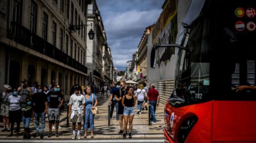
[[255,5],[253,0],[205,3],[184,34],[191,54],[179,51],[172,105],[256,100],[253,90],[236,91],[240,85],[255,86]]

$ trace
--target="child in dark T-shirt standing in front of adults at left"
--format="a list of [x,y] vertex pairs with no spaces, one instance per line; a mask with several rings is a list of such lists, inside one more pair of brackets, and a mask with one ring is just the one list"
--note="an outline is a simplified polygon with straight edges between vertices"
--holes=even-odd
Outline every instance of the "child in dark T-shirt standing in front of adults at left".
[[24,139],[30,139],[30,119],[33,119],[33,109],[30,98],[27,98],[27,104],[22,109],[23,111],[23,125],[24,125]]

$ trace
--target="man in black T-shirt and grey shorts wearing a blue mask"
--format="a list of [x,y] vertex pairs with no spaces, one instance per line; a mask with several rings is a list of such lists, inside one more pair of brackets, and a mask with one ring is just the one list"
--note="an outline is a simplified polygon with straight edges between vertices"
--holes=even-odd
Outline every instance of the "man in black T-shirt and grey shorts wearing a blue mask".
[[[59,101],[60,98],[60,101]],[[52,136],[52,124],[56,123],[56,133],[55,136],[59,137],[59,120],[60,120],[60,107],[63,104],[63,96],[57,89],[57,85],[52,85],[52,91],[49,97],[49,106],[48,106],[48,116],[49,116],[49,134],[48,137]]]

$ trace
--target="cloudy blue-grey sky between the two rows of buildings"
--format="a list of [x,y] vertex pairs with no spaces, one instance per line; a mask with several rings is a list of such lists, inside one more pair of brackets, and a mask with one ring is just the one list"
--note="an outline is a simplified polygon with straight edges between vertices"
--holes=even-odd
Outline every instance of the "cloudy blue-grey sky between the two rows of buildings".
[[96,0],[103,20],[114,67],[125,70],[146,27],[162,12],[164,0]]

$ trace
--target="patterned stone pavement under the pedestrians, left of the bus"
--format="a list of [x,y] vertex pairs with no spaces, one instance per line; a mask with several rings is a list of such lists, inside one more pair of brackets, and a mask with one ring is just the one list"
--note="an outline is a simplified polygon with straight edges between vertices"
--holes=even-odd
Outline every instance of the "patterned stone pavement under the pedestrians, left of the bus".
[[[115,109],[113,112],[113,119],[110,120],[110,126],[108,126],[108,104],[109,104],[109,97],[100,97],[100,94],[97,95],[99,102],[98,102],[98,110],[100,113],[95,115],[94,118],[94,138],[104,139],[104,138],[113,138],[119,139],[122,138],[122,135],[118,135],[119,132],[119,121],[115,118]],[[135,113],[137,113],[137,105],[135,105]],[[164,128],[164,120],[163,120],[163,111],[164,105],[160,103],[160,105],[156,108],[156,124],[148,125],[148,111],[143,110],[142,114],[135,114],[133,119],[133,138],[140,138],[140,139],[150,139],[150,138],[163,138],[163,128]],[[59,129],[59,137],[52,136],[50,138],[47,137],[49,128],[48,128],[48,119],[46,122],[46,129],[45,129],[45,136],[44,139],[48,140],[56,140],[56,139],[65,139],[70,140],[72,137],[72,123],[69,122],[69,127],[67,127],[67,109],[61,112],[60,116],[60,126]],[[83,125],[82,125],[83,126]],[[14,125],[16,127],[16,125]],[[35,121],[30,123],[30,128],[33,133],[35,133]],[[127,125],[127,131],[129,129],[129,123]],[[1,132],[0,131],[0,140],[3,139],[23,139],[23,124],[20,125],[20,135],[18,137],[7,137],[10,132]],[[54,131],[54,130],[53,130]],[[54,132],[53,132],[54,133]],[[84,133],[81,131],[81,136]],[[87,138],[82,140],[90,140],[90,129],[88,129]],[[31,137],[31,139],[40,140],[40,137]]]

